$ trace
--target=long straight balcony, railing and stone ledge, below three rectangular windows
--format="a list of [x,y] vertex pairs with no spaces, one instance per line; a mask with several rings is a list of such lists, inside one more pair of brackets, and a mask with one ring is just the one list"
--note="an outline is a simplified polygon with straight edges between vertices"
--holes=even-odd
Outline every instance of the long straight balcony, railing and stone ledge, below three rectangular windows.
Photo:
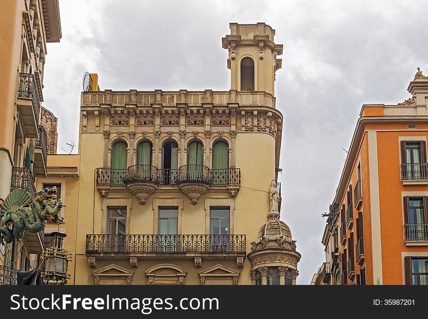
[[92,257],[177,258],[245,257],[245,235],[89,234],[86,254]]

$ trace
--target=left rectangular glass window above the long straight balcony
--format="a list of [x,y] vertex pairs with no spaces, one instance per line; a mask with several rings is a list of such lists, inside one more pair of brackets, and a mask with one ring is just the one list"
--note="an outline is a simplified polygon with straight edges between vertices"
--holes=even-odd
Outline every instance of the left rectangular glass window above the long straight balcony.
[[107,234],[107,249],[125,250],[126,207],[108,208]]

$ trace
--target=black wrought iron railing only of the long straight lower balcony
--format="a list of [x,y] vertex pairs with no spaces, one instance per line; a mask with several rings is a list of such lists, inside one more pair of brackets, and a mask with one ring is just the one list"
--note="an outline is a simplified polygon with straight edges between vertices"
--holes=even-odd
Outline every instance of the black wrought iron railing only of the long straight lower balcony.
[[243,252],[245,235],[86,235],[86,253]]

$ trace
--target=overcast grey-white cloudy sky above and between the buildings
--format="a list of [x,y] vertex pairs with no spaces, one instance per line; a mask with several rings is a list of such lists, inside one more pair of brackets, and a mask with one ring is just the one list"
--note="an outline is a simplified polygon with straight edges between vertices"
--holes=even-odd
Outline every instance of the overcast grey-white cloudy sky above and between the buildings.
[[428,72],[426,1],[59,0],[62,39],[48,44],[44,106],[58,152],[78,142],[82,75],[101,89],[228,90],[221,37],[229,22],[266,22],[284,44],[276,105],[284,114],[281,218],[297,249],[298,284],[324,260],[321,213],[333,201],[362,104],[397,104]]

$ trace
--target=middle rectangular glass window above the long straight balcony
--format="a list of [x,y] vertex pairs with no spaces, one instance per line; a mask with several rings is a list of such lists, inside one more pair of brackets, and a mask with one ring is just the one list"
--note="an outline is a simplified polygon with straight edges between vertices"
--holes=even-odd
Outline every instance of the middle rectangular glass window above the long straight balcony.
[[178,238],[178,207],[159,209],[159,251],[176,251]]

